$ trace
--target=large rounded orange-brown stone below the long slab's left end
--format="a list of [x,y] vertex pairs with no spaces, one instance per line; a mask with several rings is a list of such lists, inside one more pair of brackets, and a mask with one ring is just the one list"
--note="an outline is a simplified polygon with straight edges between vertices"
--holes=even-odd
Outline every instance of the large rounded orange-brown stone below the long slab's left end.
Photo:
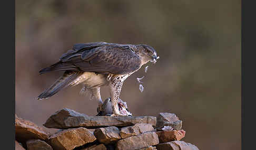
[[48,140],[53,149],[71,150],[75,147],[94,142],[96,137],[87,128],[78,127],[51,135]]

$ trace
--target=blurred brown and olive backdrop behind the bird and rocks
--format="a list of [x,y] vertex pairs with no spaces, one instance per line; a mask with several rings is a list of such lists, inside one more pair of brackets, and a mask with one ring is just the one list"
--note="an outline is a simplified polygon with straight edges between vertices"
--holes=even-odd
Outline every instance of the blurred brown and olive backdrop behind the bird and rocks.
[[[16,1],[16,114],[38,125],[62,108],[95,115],[97,103],[64,89],[35,98],[63,72],[38,74],[79,42],[148,44],[160,59],[121,92],[135,116],[175,113],[185,142],[241,149],[241,1]],[[109,97],[107,89],[102,98]],[[51,130],[53,132],[53,130]]]

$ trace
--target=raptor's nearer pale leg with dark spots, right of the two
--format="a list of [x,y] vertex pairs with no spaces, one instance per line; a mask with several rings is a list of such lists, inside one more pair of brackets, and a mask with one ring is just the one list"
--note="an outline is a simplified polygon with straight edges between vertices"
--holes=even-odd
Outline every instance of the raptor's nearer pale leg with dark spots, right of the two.
[[116,79],[112,80],[109,84],[110,97],[111,97],[112,109],[113,109],[113,114],[111,116],[123,116],[123,114],[119,112],[119,108],[117,104],[119,95],[122,89],[122,85],[123,85],[123,81],[116,80]]

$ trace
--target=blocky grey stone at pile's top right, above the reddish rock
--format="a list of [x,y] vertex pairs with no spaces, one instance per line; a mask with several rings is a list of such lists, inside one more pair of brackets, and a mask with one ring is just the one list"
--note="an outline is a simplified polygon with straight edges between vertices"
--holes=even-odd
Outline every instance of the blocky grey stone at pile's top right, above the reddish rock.
[[174,113],[159,113],[156,117],[156,130],[163,131],[163,128],[170,126],[173,130],[181,130],[182,121]]

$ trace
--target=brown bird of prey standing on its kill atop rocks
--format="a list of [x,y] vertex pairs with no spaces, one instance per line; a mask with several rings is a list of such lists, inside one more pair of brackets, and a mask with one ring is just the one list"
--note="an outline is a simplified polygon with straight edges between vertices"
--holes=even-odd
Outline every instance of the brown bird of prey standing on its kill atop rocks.
[[124,80],[139,70],[145,63],[156,62],[159,58],[154,48],[148,45],[122,45],[107,42],[90,42],[75,44],[71,50],[64,53],[57,63],[39,71],[40,74],[50,71],[65,71],[50,88],[37,97],[43,100],[52,97],[66,87],[83,84],[93,99],[99,103],[102,111],[103,101],[100,88],[110,89],[111,116],[125,116],[120,111],[118,100]]

